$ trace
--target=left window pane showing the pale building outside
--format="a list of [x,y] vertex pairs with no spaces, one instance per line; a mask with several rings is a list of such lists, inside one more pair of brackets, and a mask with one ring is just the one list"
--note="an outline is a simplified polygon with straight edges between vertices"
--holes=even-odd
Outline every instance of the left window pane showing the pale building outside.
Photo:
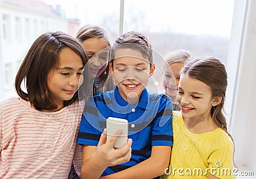
[[76,35],[79,27],[93,24],[104,27],[114,39],[118,36],[119,8],[115,0],[0,0],[0,82],[4,84],[0,85],[0,101],[17,96],[13,88],[17,65],[39,35],[46,31]]

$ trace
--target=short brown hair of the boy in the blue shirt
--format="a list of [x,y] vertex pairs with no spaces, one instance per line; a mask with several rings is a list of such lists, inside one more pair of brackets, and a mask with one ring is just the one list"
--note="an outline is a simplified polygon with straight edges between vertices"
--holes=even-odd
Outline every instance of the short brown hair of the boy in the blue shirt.
[[119,36],[111,48],[111,64],[115,59],[115,51],[117,49],[135,49],[140,51],[145,59],[148,59],[150,66],[153,64],[152,45],[148,41],[147,36],[143,33],[129,31]]

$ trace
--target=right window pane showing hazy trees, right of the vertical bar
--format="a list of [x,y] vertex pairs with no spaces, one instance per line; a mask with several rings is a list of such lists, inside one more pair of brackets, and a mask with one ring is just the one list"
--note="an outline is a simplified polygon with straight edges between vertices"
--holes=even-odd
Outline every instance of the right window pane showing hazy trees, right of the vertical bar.
[[163,92],[164,59],[178,49],[199,58],[214,56],[226,64],[233,8],[234,0],[125,1],[124,32],[145,33],[155,51],[154,82],[148,88]]

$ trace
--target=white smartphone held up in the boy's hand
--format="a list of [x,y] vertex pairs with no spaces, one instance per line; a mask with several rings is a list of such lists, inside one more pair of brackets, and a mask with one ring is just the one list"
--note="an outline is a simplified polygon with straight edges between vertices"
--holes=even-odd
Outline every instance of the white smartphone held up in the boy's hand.
[[107,141],[110,136],[115,136],[118,129],[122,129],[122,134],[118,136],[114,148],[122,148],[128,140],[128,121],[120,118],[109,117],[107,119]]

